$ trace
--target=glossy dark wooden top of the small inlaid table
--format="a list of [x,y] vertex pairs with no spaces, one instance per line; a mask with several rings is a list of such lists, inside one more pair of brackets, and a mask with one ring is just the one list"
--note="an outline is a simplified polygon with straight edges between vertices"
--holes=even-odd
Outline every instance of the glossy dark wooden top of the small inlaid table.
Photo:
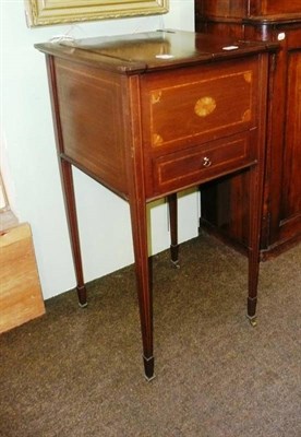
[[60,39],[35,47],[123,74],[205,63],[275,50],[277,43],[246,42],[185,31],[164,29],[131,35]]

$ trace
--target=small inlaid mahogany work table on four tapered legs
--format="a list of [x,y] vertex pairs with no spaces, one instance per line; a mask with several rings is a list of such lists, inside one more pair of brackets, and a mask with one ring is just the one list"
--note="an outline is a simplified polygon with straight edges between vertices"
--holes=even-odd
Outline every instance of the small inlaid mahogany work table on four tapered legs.
[[250,172],[248,317],[255,323],[268,64],[277,45],[180,31],[46,43],[57,150],[86,305],[72,165],[129,201],[145,376],[154,376],[146,203]]

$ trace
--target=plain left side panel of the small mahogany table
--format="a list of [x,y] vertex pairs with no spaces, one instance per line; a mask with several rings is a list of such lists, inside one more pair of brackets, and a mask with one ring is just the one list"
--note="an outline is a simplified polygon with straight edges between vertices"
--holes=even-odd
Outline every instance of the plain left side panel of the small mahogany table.
[[127,196],[120,75],[56,59],[63,154]]

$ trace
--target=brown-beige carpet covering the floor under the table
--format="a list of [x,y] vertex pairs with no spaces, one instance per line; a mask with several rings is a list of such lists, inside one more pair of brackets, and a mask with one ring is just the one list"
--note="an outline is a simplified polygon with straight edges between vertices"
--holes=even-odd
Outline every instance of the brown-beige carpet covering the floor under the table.
[[3,437],[300,437],[301,245],[261,265],[245,318],[246,260],[202,235],[153,259],[155,373],[143,376],[127,268],[0,336]]

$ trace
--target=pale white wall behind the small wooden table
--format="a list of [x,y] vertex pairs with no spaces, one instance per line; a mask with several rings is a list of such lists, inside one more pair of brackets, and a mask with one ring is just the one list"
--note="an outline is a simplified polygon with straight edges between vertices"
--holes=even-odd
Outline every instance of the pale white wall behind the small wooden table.
[[[77,38],[153,31],[192,29],[193,0],[170,0],[166,15],[27,28],[23,0],[1,1],[1,165],[20,222],[32,226],[43,294],[49,298],[75,286],[56,157],[44,56],[34,49],[55,35]],[[80,208],[85,280],[133,262],[127,202],[86,175],[74,172]],[[180,240],[197,233],[195,193],[180,200]],[[153,204],[152,252],[169,246],[167,209]]]

